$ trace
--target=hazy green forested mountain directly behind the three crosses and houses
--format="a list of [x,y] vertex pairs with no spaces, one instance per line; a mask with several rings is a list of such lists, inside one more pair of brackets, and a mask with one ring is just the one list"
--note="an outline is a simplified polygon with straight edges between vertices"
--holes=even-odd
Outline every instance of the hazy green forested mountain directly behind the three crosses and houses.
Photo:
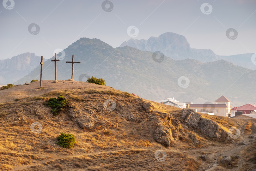
[[[57,62],[59,80],[70,79],[71,65],[65,62],[71,61],[72,55],[75,55],[75,61],[81,62],[75,64],[75,80],[85,74],[104,78],[108,86],[152,101],[175,97],[181,102],[205,103],[214,102],[223,94],[233,106],[255,103],[254,71],[224,60],[203,63],[193,59],[173,60],[165,56],[163,62],[158,63],[153,60],[152,52],[129,46],[113,48],[96,38],[81,38],[64,51],[65,58]],[[43,80],[54,79],[52,59],[44,62]],[[189,78],[187,88],[178,85],[181,76]],[[33,79],[40,79],[40,67],[16,84]],[[86,80],[85,77],[80,81]]]

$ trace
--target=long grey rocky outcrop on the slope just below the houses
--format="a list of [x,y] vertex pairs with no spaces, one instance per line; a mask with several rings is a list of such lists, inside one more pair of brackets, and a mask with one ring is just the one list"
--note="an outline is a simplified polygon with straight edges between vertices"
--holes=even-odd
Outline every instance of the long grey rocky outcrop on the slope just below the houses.
[[183,109],[181,118],[184,122],[193,128],[198,128],[199,131],[206,137],[218,138],[225,141],[229,140],[229,135],[217,123],[210,119],[202,118],[201,115],[194,112],[192,109]]

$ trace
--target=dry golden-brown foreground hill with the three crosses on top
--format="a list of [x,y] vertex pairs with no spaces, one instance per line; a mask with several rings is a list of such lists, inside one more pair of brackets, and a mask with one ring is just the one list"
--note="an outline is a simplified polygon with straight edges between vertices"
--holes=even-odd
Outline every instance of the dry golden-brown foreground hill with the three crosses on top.
[[[43,86],[34,82],[0,91],[2,170],[256,168],[250,151],[256,150],[254,120],[245,130],[249,121],[181,110],[108,86],[62,80],[44,80]],[[73,107],[54,116],[43,103],[59,95]],[[112,104],[106,103],[109,99]],[[35,122],[41,130],[32,129]],[[230,127],[241,130],[237,139],[229,136]],[[61,132],[76,136],[72,149],[56,144]],[[232,160],[222,164],[222,156]]]

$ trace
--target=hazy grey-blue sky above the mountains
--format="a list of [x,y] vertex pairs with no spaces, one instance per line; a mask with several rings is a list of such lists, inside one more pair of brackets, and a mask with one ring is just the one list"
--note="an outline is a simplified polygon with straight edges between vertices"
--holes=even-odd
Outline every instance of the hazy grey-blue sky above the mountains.
[[[111,0],[105,6],[110,12],[103,10],[103,2],[4,0],[0,59],[24,52],[50,58],[54,50],[65,49],[81,37],[118,47],[131,38],[130,26],[139,31],[135,39],[174,32],[184,35],[192,48],[211,49],[217,55],[256,53],[256,0]],[[226,36],[229,28],[237,31],[237,38]]]

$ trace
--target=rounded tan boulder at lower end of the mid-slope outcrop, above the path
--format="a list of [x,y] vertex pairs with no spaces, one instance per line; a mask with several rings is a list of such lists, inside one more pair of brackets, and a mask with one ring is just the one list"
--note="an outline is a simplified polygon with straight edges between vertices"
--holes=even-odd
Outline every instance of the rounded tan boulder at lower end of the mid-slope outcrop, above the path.
[[155,129],[154,139],[165,146],[169,146],[174,141],[171,129],[165,125],[158,125]]

